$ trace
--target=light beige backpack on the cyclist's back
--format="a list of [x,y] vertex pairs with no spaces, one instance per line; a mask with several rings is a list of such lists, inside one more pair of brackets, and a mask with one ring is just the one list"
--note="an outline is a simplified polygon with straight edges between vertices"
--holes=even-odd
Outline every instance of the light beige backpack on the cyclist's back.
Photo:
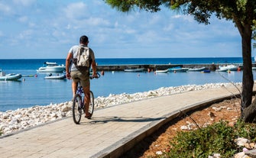
[[89,47],[79,46],[76,58],[73,58],[73,63],[76,69],[84,75],[89,75],[89,67],[91,65],[91,58],[89,56]]

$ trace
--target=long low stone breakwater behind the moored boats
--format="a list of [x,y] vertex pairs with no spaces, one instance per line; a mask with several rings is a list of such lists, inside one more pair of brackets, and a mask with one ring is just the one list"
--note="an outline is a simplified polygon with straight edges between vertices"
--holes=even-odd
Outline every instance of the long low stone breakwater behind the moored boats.
[[[151,69],[151,71],[155,71],[156,69],[170,69],[173,67],[183,67],[183,68],[200,68],[206,67],[206,69],[215,71],[219,66],[225,66],[227,63],[219,63],[219,64],[131,64],[131,65],[100,65],[97,66],[99,71],[124,71],[124,69]],[[235,63],[234,65],[242,68],[241,63]],[[255,66],[255,64],[253,64]]]

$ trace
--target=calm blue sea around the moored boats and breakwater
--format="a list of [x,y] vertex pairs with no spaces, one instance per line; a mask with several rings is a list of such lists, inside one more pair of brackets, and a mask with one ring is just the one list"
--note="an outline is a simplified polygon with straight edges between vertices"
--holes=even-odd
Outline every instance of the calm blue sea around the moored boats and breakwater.
[[[252,59],[253,60],[253,59]],[[72,99],[69,79],[44,79],[48,73],[37,73],[44,62],[65,64],[65,59],[18,59],[0,60],[0,69],[5,73],[21,73],[18,81],[0,81],[0,111],[29,108],[34,105],[50,105],[68,102]],[[128,64],[211,64],[242,63],[241,57],[211,58],[118,58],[97,59],[98,65]],[[37,76],[37,77],[35,77]],[[122,93],[147,92],[161,87],[180,85],[203,85],[217,82],[241,82],[242,71],[226,72],[186,72],[186,73],[125,73],[105,72],[99,79],[91,80],[91,89],[95,97],[107,97]]]

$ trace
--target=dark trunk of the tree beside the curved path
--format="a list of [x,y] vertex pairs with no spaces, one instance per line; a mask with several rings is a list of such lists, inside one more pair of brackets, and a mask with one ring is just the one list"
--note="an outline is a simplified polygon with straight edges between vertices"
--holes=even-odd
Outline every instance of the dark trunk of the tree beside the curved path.
[[[254,112],[244,111],[251,106],[254,79],[251,71],[251,25],[247,24],[241,34],[243,56],[243,79],[241,92],[241,118],[245,122],[252,122],[256,117]],[[254,108],[254,111],[256,109]]]

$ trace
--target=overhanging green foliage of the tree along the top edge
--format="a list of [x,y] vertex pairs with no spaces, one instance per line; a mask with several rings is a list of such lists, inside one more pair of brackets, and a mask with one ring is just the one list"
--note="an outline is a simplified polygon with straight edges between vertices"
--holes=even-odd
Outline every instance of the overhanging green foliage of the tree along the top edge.
[[118,11],[132,11],[135,8],[157,12],[164,5],[170,9],[181,9],[184,14],[193,15],[199,23],[209,24],[209,18],[225,18],[232,21],[252,21],[256,17],[254,0],[104,0]]

